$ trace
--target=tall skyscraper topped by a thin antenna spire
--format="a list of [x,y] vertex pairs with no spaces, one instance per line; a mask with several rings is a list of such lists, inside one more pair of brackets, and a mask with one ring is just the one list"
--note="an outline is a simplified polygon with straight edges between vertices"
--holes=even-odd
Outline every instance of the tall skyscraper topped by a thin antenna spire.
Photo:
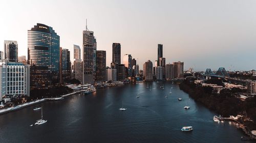
[[94,83],[94,76],[96,74],[96,50],[97,43],[94,34],[86,28],[83,31],[83,84]]

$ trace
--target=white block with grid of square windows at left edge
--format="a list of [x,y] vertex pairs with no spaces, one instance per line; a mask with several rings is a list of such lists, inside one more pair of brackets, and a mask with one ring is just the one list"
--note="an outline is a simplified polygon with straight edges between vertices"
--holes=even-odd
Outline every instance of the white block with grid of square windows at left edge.
[[29,65],[17,62],[1,62],[0,65],[0,99],[2,97],[29,96],[30,75]]

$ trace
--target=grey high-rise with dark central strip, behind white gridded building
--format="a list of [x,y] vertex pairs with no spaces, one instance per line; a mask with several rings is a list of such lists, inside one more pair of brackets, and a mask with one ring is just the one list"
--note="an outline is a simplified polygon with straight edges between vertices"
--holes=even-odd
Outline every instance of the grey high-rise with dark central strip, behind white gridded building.
[[17,41],[5,40],[5,60],[8,60],[10,62],[18,61]]

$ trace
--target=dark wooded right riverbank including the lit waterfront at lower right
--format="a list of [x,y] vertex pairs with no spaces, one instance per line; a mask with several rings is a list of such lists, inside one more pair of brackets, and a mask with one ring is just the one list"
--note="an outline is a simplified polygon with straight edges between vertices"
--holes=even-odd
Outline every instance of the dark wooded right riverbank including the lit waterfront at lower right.
[[204,106],[212,111],[217,112],[219,115],[237,116],[242,115],[240,119],[237,119],[236,127],[242,129],[248,136],[256,139],[256,135],[252,134],[252,130],[255,130],[255,124],[247,115],[244,115],[244,101],[237,99],[236,97],[230,96],[230,93],[222,93],[214,95],[209,92],[209,89],[204,89],[194,82],[184,81],[180,85],[180,90],[189,94],[195,101],[202,103]]

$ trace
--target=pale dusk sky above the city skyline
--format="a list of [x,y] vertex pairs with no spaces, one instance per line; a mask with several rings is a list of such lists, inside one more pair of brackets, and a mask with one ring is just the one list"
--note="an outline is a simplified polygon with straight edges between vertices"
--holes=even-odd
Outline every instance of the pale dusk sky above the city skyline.
[[[53,27],[60,46],[82,49],[82,31],[94,32],[97,50],[106,50],[112,62],[112,43],[121,44],[121,55],[157,60],[163,44],[166,64],[184,62],[184,69],[205,71],[256,69],[256,1],[65,1],[1,0],[0,50],[4,40],[18,42],[18,55],[27,57],[27,31],[36,23]],[[122,60],[122,57],[121,57]]]

